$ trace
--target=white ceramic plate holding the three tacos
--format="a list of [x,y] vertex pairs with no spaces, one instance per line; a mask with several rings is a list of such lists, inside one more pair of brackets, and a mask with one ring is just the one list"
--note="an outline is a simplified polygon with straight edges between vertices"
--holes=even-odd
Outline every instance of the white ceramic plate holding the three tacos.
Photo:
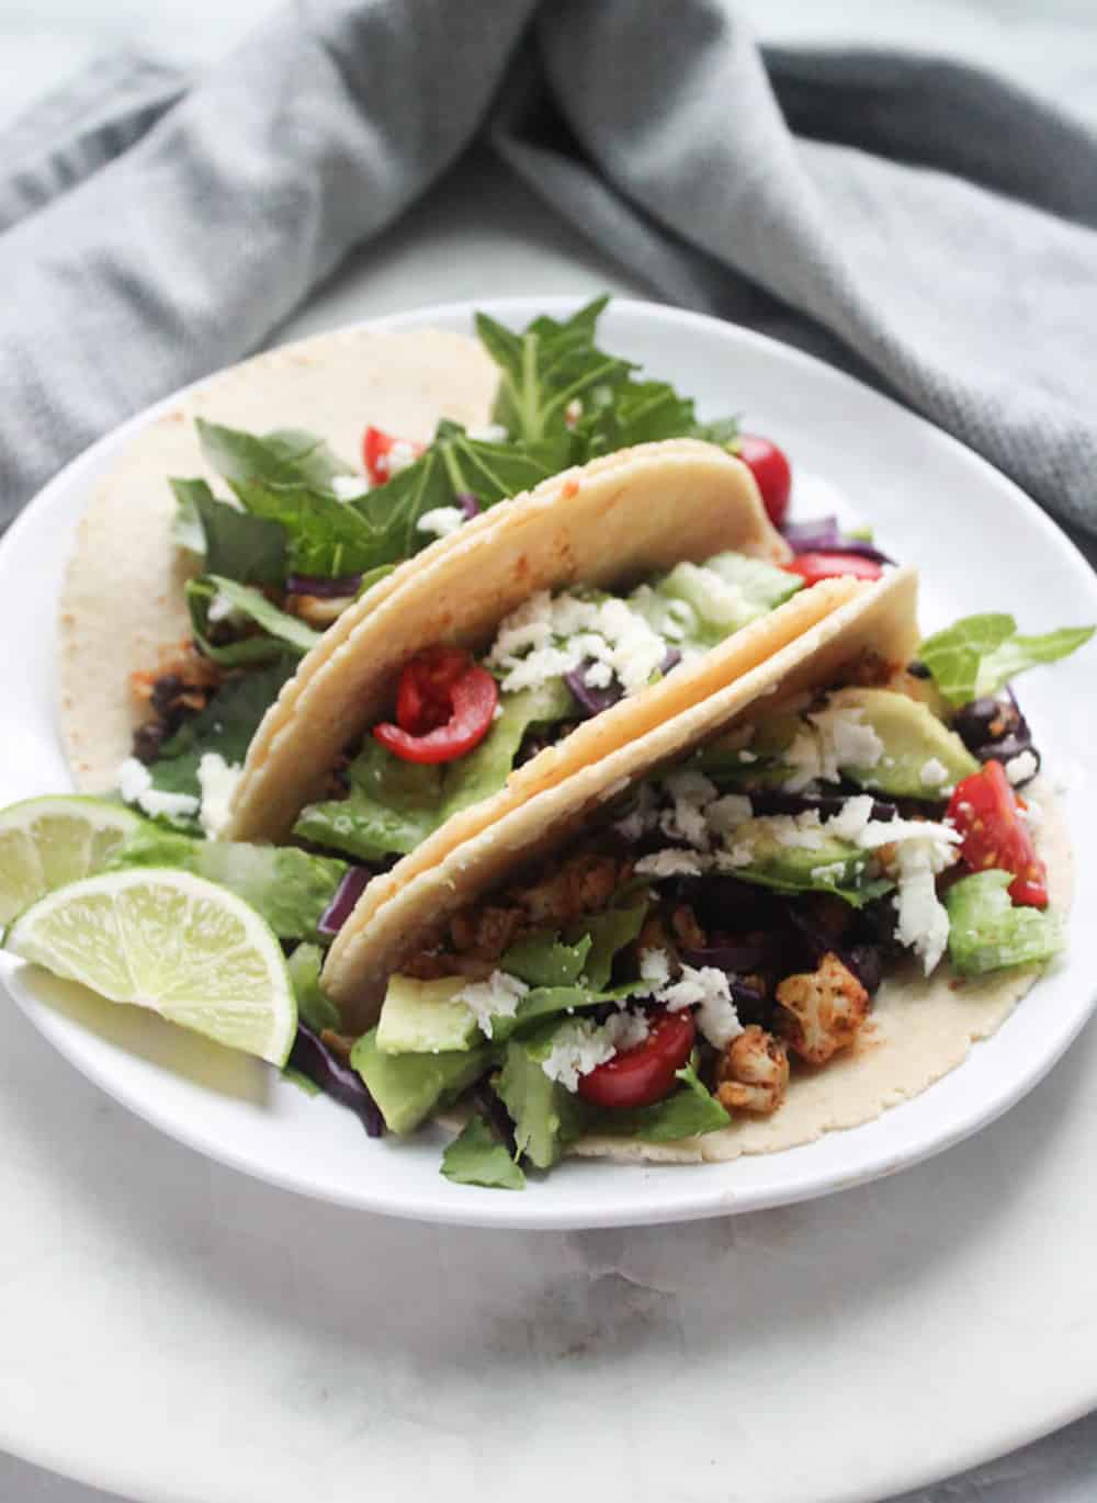
[[[485,305],[520,325],[573,304]],[[382,320],[386,328],[470,331],[469,305]],[[1080,555],[1010,481],[962,445],[820,362],[718,320],[640,302],[610,305],[603,343],[697,397],[703,415],[741,412],[771,433],[793,469],[834,487],[885,546],[923,571],[923,625],[1013,610],[1026,630],[1097,619],[1097,583]],[[170,401],[174,401],[171,398]],[[170,406],[164,403],[161,406]],[[69,786],[54,726],[54,609],[72,528],[96,476],[161,407],[132,419],[63,470],[0,549],[0,663],[6,733],[0,803]],[[367,415],[364,413],[364,418]],[[799,504],[798,504],[799,500]],[[104,666],[110,672],[110,664]],[[1094,828],[1097,797],[1080,771],[1097,741],[1092,667],[1070,660],[1025,681],[1025,708],[1052,777],[1068,785],[1074,828]],[[1097,863],[1080,863],[1065,960],[999,1033],[912,1102],[863,1127],[766,1157],[706,1166],[570,1162],[524,1193],[449,1184],[440,1135],[370,1142],[331,1102],[311,1100],[254,1061],[210,1049],[135,1009],[110,1007],[3,959],[33,1024],[117,1100],[191,1147],[273,1184],[385,1211],[494,1226],[597,1226],[684,1220],[825,1195],[947,1148],[1019,1100],[1088,1018],[1097,992]]]

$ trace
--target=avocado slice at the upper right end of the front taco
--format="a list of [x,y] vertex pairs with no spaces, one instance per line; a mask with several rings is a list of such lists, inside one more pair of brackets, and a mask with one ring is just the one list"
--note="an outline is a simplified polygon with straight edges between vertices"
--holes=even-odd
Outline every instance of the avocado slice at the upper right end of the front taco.
[[861,724],[872,726],[884,742],[884,756],[875,767],[842,768],[861,788],[894,798],[942,798],[962,779],[978,773],[978,762],[956,732],[906,694],[890,688],[840,688],[827,708],[860,709]]

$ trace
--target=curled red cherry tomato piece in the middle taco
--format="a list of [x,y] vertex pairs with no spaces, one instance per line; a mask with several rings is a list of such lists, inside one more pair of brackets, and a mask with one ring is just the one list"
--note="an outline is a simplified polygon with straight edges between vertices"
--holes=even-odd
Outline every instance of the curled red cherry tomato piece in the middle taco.
[[404,762],[452,762],[479,745],[497,703],[499,685],[467,652],[428,648],[416,654],[400,676],[400,724],[382,721],[373,733]]

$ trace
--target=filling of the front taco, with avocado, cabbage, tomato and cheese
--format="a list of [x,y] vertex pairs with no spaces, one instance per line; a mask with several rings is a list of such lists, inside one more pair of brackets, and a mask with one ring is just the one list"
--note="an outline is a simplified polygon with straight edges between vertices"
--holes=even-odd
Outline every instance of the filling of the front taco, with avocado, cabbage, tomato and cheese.
[[777,1114],[872,1037],[885,980],[1058,951],[1037,765],[1011,696],[953,711],[923,663],[863,654],[452,914],[350,1063],[397,1133],[475,1085],[445,1171],[472,1183]]

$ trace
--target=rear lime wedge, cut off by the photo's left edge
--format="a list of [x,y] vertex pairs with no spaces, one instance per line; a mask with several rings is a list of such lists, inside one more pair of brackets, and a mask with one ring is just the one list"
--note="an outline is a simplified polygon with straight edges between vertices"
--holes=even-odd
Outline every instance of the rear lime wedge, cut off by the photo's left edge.
[[105,798],[26,798],[0,810],[0,927],[56,887],[102,870],[143,825]]

